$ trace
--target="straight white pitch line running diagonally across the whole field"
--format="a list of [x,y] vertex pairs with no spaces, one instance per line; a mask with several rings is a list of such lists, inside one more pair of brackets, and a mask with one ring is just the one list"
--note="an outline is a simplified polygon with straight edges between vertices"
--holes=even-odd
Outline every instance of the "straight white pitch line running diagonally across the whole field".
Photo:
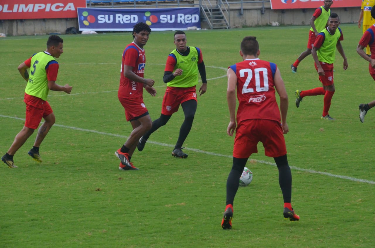
[[[24,118],[11,117],[11,116],[7,116],[7,115],[0,115],[0,117],[25,121]],[[101,135],[120,137],[120,138],[123,138],[123,139],[128,138],[127,136],[120,135],[120,134],[105,133],[105,132],[101,132],[101,131],[90,130],[90,129],[80,128],[80,127],[71,127],[71,126],[60,125],[60,124],[54,124],[54,126],[62,127],[62,128],[68,128],[68,129],[77,130],[77,131],[88,132],[88,133],[96,133],[96,134],[101,134]],[[160,145],[160,146],[166,146],[166,147],[174,147],[174,145],[170,145],[170,144],[166,144],[166,143],[160,143],[160,142],[151,141],[151,140],[147,140],[147,143],[151,143],[151,144],[154,144],[154,145]],[[213,155],[213,156],[217,156],[217,157],[233,158],[232,156],[229,156],[229,155],[219,154],[219,153],[215,153],[215,152],[207,152],[207,151],[203,151],[203,150],[195,149],[195,148],[185,148],[185,149],[189,150],[189,151],[203,153],[203,154],[207,154],[207,155]],[[268,164],[268,165],[276,166],[275,163],[271,163],[269,161],[255,160],[255,159],[250,159],[250,161],[255,161],[255,162],[261,163],[261,164]],[[367,184],[375,184],[374,181],[369,181],[369,180],[359,179],[359,178],[353,178],[353,177],[350,177],[350,176],[335,175],[335,174],[332,174],[332,173],[321,172],[321,171],[317,171],[317,170],[303,169],[303,168],[299,168],[299,167],[296,167],[296,166],[290,166],[290,168],[294,169],[294,170],[300,170],[300,171],[303,171],[303,172],[309,172],[309,173],[315,173],[315,174],[320,174],[320,175],[325,175],[325,176],[331,176],[331,177],[335,177],[335,178],[347,179],[347,180],[354,181],[354,182],[365,182]]]

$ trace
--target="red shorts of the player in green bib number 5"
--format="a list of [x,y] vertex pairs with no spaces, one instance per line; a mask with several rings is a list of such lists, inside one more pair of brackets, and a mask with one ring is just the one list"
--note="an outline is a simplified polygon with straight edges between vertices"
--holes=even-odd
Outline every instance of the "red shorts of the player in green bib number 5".
[[24,102],[26,103],[25,127],[36,129],[42,118],[53,113],[49,103],[39,97],[30,96],[25,93]]

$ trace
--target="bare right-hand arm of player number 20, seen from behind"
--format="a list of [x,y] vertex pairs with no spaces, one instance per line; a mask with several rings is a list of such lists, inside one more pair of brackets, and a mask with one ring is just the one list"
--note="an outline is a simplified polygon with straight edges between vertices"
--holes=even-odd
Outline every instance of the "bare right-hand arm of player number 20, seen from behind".
[[282,123],[282,130],[284,134],[289,132],[289,127],[287,123],[287,113],[288,113],[288,94],[287,90],[285,89],[284,80],[281,78],[281,73],[279,68],[276,69],[275,77],[273,79],[275,84],[275,89],[280,97],[280,113],[281,113],[281,123]]

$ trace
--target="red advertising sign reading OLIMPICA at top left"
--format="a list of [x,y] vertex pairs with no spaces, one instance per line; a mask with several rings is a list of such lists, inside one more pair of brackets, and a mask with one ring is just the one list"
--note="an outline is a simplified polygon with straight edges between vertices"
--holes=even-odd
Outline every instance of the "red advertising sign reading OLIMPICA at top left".
[[0,20],[77,18],[86,0],[1,0]]

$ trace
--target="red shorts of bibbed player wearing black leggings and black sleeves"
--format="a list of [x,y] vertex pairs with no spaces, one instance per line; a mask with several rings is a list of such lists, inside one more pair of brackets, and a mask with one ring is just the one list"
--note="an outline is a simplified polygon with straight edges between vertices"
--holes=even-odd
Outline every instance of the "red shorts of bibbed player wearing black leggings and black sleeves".
[[196,100],[195,86],[188,88],[166,87],[163,97],[162,114],[172,115],[178,111],[181,103],[189,100]]

